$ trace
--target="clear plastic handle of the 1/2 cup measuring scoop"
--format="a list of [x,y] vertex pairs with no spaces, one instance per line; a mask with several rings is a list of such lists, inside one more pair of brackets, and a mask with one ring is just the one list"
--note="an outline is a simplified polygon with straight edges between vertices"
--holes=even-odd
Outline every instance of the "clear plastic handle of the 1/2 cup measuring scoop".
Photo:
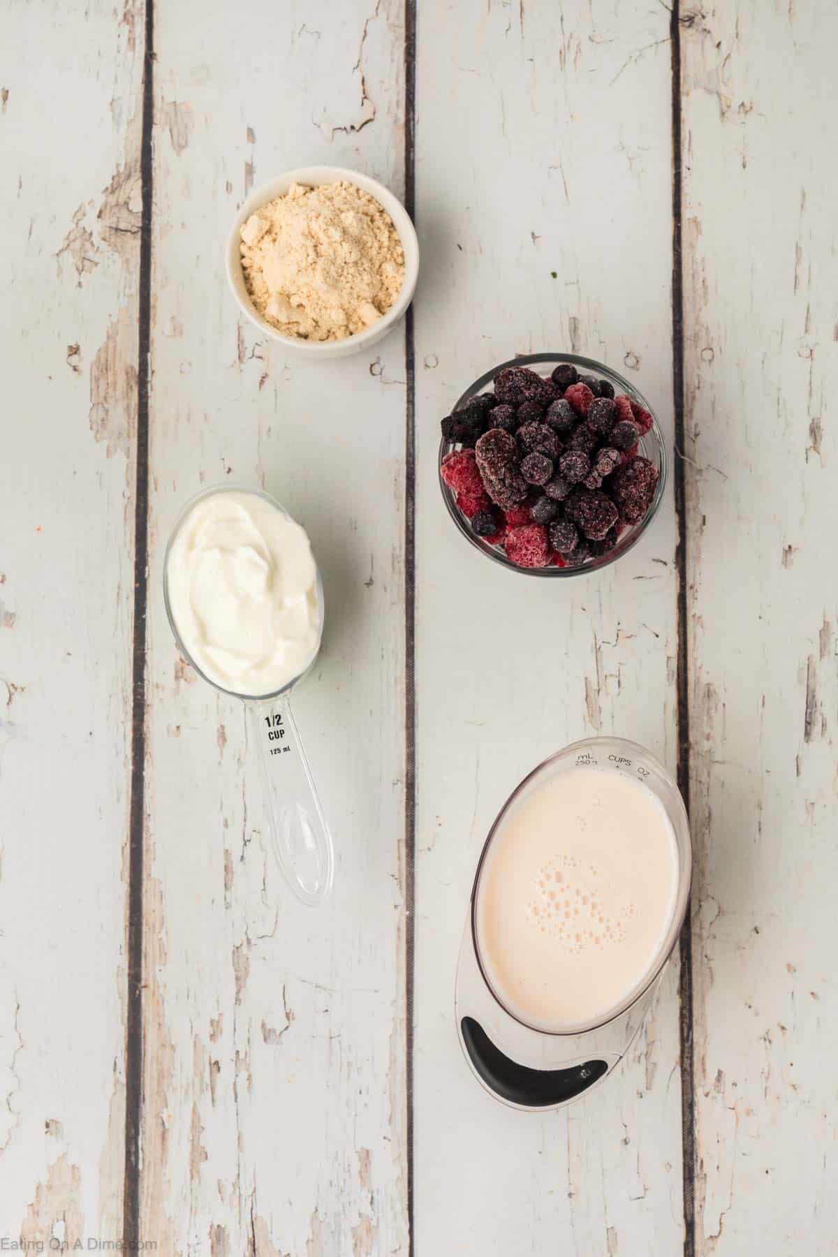
[[249,703],[276,862],[310,908],[332,890],[334,848],[288,698]]

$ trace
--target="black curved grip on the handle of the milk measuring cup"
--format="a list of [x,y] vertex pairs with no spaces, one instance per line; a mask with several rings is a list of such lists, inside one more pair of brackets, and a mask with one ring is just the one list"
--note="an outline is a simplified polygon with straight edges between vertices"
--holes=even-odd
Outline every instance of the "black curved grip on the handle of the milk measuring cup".
[[529,1109],[563,1104],[582,1095],[608,1070],[604,1061],[585,1061],[569,1070],[533,1070],[529,1065],[518,1065],[495,1047],[474,1017],[464,1017],[460,1028],[475,1070],[495,1095],[510,1104]]

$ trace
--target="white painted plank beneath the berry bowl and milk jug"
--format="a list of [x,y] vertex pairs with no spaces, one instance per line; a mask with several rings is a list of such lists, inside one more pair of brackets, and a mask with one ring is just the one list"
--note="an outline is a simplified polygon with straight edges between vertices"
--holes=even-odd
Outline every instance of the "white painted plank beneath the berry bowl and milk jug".
[[544,1117],[474,1082],[452,987],[477,854],[531,767],[599,732],[675,767],[671,491],[617,567],[548,583],[480,559],[436,481],[440,416],[515,352],[628,372],[671,431],[668,11],[420,5],[416,170],[417,1252],[670,1254],[677,967],[632,1058]]

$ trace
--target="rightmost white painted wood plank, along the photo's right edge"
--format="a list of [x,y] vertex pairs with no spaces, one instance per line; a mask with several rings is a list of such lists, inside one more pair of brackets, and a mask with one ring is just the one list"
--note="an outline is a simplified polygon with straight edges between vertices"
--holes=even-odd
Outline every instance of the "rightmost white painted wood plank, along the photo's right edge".
[[697,1252],[832,1253],[838,15],[682,31]]

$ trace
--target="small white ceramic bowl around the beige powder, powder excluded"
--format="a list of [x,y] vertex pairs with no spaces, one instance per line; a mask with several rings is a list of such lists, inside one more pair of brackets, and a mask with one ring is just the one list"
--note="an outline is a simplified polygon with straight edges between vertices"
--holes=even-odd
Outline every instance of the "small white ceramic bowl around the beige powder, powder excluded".
[[[268,319],[264,319],[256,312],[250,300],[241,269],[241,226],[261,205],[286,192],[291,184],[305,184],[309,187],[319,187],[320,184],[337,184],[339,180],[354,184],[363,192],[374,196],[393,220],[393,226],[398,231],[398,238],[405,250],[405,283],[402,284],[402,290],[374,327],[368,328],[366,332],[357,332],[354,336],[348,336],[343,341],[303,341],[295,336],[283,336]],[[418,240],[416,239],[416,229],[405,206],[392,192],[376,182],[374,178],[369,178],[368,175],[361,175],[356,170],[343,170],[340,166],[300,166],[298,170],[285,171],[284,175],[271,180],[270,184],[263,184],[261,187],[250,194],[232,224],[230,239],[227,240],[226,269],[232,295],[242,312],[271,341],[278,341],[286,349],[305,358],[346,358],[351,353],[359,353],[362,349],[368,349],[371,346],[377,344],[405,314],[413,298],[416,279],[418,277]]]

